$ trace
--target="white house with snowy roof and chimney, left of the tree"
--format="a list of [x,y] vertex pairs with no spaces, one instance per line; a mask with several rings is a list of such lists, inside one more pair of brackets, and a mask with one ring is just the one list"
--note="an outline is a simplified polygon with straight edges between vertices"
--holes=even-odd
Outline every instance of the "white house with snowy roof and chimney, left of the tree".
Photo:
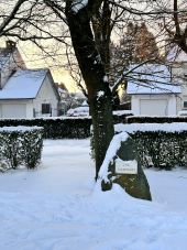
[[50,69],[28,69],[13,42],[0,48],[0,118],[57,116],[59,95]]

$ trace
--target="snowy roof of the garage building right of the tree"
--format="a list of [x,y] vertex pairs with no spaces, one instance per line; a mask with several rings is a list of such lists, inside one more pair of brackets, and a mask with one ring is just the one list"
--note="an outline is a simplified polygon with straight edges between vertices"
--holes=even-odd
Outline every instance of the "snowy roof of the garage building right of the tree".
[[[131,65],[134,68],[138,65]],[[172,73],[165,65],[146,64],[134,69],[128,80],[129,95],[180,94],[179,84],[172,83]]]

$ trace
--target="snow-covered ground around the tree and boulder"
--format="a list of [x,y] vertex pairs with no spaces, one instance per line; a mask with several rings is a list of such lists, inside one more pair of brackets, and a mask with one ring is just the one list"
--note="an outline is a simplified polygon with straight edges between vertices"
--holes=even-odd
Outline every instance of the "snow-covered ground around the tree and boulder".
[[145,171],[153,202],[94,184],[89,140],[46,140],[36,171],[0,174],[2,250],[186,250],[187,170]]

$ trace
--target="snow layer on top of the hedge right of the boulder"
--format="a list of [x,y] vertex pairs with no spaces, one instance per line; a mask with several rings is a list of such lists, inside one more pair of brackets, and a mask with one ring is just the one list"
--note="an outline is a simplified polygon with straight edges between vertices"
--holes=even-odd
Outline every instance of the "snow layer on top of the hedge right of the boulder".
[[118,123],[114,126],[116,132],[134,133],[136,131],[165,131],[165,132],[182,132],[187,131],[187,122],[173,122],[173,123]]

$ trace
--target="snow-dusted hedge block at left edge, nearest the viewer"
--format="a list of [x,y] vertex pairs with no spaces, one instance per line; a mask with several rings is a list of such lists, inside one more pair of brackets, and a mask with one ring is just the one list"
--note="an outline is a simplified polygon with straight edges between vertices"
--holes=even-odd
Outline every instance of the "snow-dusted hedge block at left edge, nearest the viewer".
[[25,165],[34,169],[41,161],[43,128],[0,128],[0,170]]

